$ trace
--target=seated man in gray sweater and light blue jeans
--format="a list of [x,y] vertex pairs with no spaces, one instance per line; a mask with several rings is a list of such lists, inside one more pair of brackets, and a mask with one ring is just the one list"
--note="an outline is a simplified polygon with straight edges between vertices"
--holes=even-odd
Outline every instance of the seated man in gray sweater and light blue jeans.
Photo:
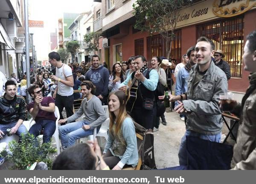
[[[96,91],[95,85],[90,81],[82,82],[81,91],[85,98],[79,110],[67,119],[59,120],[59,123],[68,123],[59,127],[63,149],[75,144],[77,139],[92,135],[94,128],[97,127],[97,131],[99,131],[102,123],[107,119],[101,101],[93,95]],[[83,114],[85,119],[75,122]]]

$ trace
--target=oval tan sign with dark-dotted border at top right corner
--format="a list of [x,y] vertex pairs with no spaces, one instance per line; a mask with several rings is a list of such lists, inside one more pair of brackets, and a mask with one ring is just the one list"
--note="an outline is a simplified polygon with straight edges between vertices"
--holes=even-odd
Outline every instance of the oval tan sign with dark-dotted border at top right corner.
[[219,17],[233,17],[256,6],[256,0],[214,0],[212,12]]

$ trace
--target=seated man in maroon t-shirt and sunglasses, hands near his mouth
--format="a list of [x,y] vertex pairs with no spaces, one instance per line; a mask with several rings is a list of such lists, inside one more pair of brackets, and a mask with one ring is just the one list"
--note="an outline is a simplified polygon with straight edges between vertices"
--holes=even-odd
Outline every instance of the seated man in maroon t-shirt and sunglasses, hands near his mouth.
[[36,139],[44,130],[43,143],[50,142],[56,129],[54,99],[51,96],[43,97],[42,90],[38,85],[31,85],[28,88],[28,93],[34,98],[34,101],[27,105],[27,110],[35,119],[35,124],[30,127],[29,133],[33,134]]

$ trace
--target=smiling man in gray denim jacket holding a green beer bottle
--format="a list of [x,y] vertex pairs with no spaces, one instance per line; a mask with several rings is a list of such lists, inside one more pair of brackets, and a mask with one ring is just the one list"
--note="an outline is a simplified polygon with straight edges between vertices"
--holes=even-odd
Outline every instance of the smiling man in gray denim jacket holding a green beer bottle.
[[[176,112],[187,116],[178,155],[180,165],[187,165],[186,136],[212,142],[221,140],[222,119],[218,102],[219,94],[227,92],[227,76],[211,59],[214,49],[212,40],[199,38],[195,46],[197,64],[189,73],[188,92],[177,96],[169,94],[171,102],[179,102]],[[163,96],[159,98],[163,99]]]

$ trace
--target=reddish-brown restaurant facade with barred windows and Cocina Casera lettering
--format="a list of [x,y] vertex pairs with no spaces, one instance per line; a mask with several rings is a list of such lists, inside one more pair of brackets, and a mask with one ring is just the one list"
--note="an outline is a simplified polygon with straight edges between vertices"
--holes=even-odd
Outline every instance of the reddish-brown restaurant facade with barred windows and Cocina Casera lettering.
[[[135,30],[132,5],[136,0],[102,0],[102,28],[105,38],[100,40],[103,60],[112,65],[130,56],[164,56],[163,38]],[[201,36],[210,38],[215,49],[221,49],[231,68],[229,91],[245,92],[249,85],[248,72],[242,61],[243,45],[248,33],[256,29],[254,1],[201,0],[180,10],[175,28],[175,40],[169,58],[180,61],[187,49]],[[94,22],[94,24],[96,24]],[[165,56],[166,57],[166,56]]]

